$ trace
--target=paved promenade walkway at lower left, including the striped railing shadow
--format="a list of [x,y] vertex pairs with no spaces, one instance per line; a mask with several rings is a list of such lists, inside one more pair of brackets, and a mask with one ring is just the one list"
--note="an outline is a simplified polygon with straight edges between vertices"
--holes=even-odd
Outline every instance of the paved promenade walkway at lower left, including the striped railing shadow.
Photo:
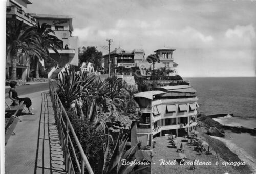
[[[5,173],[65,173],[52,102],[48,92],[26,96],[35,115],[21,115],[5,146]],[[8,102],[8,101],[7,101]],[[8,102],[10,103],[10,102]]]

